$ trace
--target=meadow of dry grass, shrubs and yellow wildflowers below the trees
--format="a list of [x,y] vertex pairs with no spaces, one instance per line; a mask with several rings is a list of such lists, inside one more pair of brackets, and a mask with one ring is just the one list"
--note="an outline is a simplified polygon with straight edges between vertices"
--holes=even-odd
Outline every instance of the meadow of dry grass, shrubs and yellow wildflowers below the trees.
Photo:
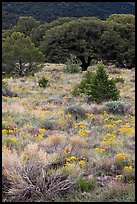
[[3,202],[135,202],[135,70],[106,67],[123,78],[120,114],[73,97],[83,74],[64,67],[5,78],[16,97],[2,97]]

